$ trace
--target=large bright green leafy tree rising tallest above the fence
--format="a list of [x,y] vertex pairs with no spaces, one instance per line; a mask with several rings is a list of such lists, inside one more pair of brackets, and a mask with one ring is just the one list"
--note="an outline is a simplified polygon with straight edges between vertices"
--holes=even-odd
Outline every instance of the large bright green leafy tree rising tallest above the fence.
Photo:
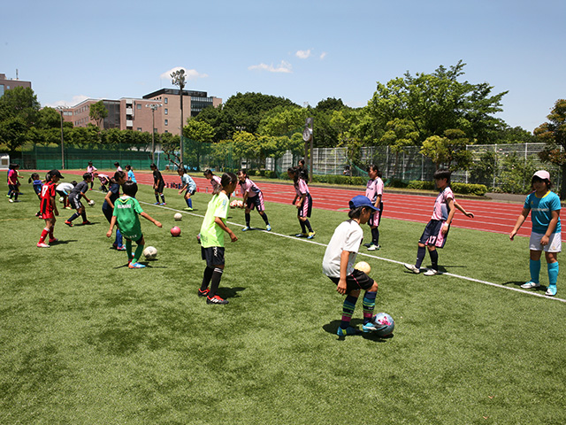
[[451,128],[462,130],[470,140],[488,142],[501,127],[493,113],[501,112],[501,98],[507,92],[492,96],[493,87],[487,83],[458,81],[464,66],[459,61],[449,69],[440,66],[434,73],[415,76],[407,72],[386,85],[378,83],[368,104],[371,116],[384,128],[395,119],[410,121],[418,145]]

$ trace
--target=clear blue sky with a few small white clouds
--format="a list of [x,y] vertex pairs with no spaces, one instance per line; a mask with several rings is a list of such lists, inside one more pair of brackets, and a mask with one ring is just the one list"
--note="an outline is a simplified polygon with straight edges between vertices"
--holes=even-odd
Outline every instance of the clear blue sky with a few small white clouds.
[[249,91],[315,106],[371,99],[376,81],[462,59],[463,79],[509,90],[499,116],[532,131],[566,97],[563,0],[192,0],[3,5],[0,73],[42,105],[172,87],[226,101]]

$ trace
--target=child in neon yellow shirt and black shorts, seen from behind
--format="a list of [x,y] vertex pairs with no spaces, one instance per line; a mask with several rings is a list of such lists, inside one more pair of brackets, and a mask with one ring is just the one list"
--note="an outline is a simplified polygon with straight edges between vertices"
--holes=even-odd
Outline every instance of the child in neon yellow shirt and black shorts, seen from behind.
[[218,296],[217,291],[225,265],[224,232],[230,236],[232,242],[238,240],[233,231],[226,226],[228,195],[236,189],[237,182],[238,179],[235,174],[222,174],[221,186],[218,186],[212,192],[212,199],[210,199],[201,226],[201,255],[206,260],[206,268],[198,296],[206,297],[206,304],[228,304],[228,300]]

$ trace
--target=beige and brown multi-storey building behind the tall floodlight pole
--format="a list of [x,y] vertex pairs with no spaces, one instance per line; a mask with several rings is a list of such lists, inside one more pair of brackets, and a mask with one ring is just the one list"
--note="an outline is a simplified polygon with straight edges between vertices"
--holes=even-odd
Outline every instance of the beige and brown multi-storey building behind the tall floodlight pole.
[[[121,130],[147,131],[151,128],[157,133],[180,135],[180,90],[160,89],[149,93],[142,99],[121,98],[119,100],[102,99],[108,111],[103,121],[103,128],[119,128]],[[74,127],[87,127],[88,123],[96,125],[88,114],[90,105],[100,99],[87,99],[63,112],[65,121],[72,122]],[[183,121],[195,117],[207,106],[222,104],[218,97],[208,97],[205,91],[183,90]]]

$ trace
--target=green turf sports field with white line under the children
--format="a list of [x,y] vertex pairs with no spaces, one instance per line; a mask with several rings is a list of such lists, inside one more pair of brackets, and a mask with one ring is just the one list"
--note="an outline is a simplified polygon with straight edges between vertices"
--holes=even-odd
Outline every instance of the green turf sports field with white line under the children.
[[[196,194],[172,238],[182,197],[165,189],[166,207],[149,205],[142,186],[137,198],[164,228],[142,219],[158,256],[130,270],[105,236],[102,193],[89,194],[94,225],[67,228],[72,212],[61,210],[60,242],[39,249],[37,197],[31,185],[22,191],[22,202],[3,194],[0,203],[2,424],[566,422],[566,303],[383,260],[413,262],[423,224],[384,219],[382,250],[358,256],[371,264],[376,313],[394,317],[394,336],[339,338],[343,298],[321,261],[345,213],[315,210],[314,243],[286,237],[299,231],[292,205],[267,204],[271,234],[229,224],[240,238],[226,245],[220,284],[230,304],[207,305],[196,296],[204,263],[195,235],[209,194]],[[241,210],[230,215],[243,224]],[[453,228],[440,266],[518,289],[527,242]],[[565,273],[557,298],[566,298]]]

